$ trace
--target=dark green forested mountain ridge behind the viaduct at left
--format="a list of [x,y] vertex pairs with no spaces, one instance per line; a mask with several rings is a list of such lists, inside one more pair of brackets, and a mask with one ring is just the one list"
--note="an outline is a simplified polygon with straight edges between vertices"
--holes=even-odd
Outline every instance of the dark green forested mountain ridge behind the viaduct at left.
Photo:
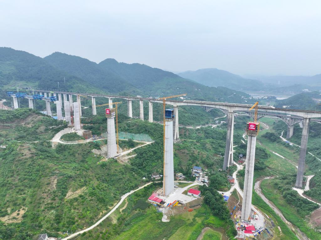
[[69,91],[145,97],[187,93],[187,98],[194,100],[252,102],[246,93],[226,87],[208,87],[144,64],[127,64],[115,59],[97,64],[59,52],[40,58],[0,47],[0,84],[3,87],[58,89],[58,82],[59,89]]

